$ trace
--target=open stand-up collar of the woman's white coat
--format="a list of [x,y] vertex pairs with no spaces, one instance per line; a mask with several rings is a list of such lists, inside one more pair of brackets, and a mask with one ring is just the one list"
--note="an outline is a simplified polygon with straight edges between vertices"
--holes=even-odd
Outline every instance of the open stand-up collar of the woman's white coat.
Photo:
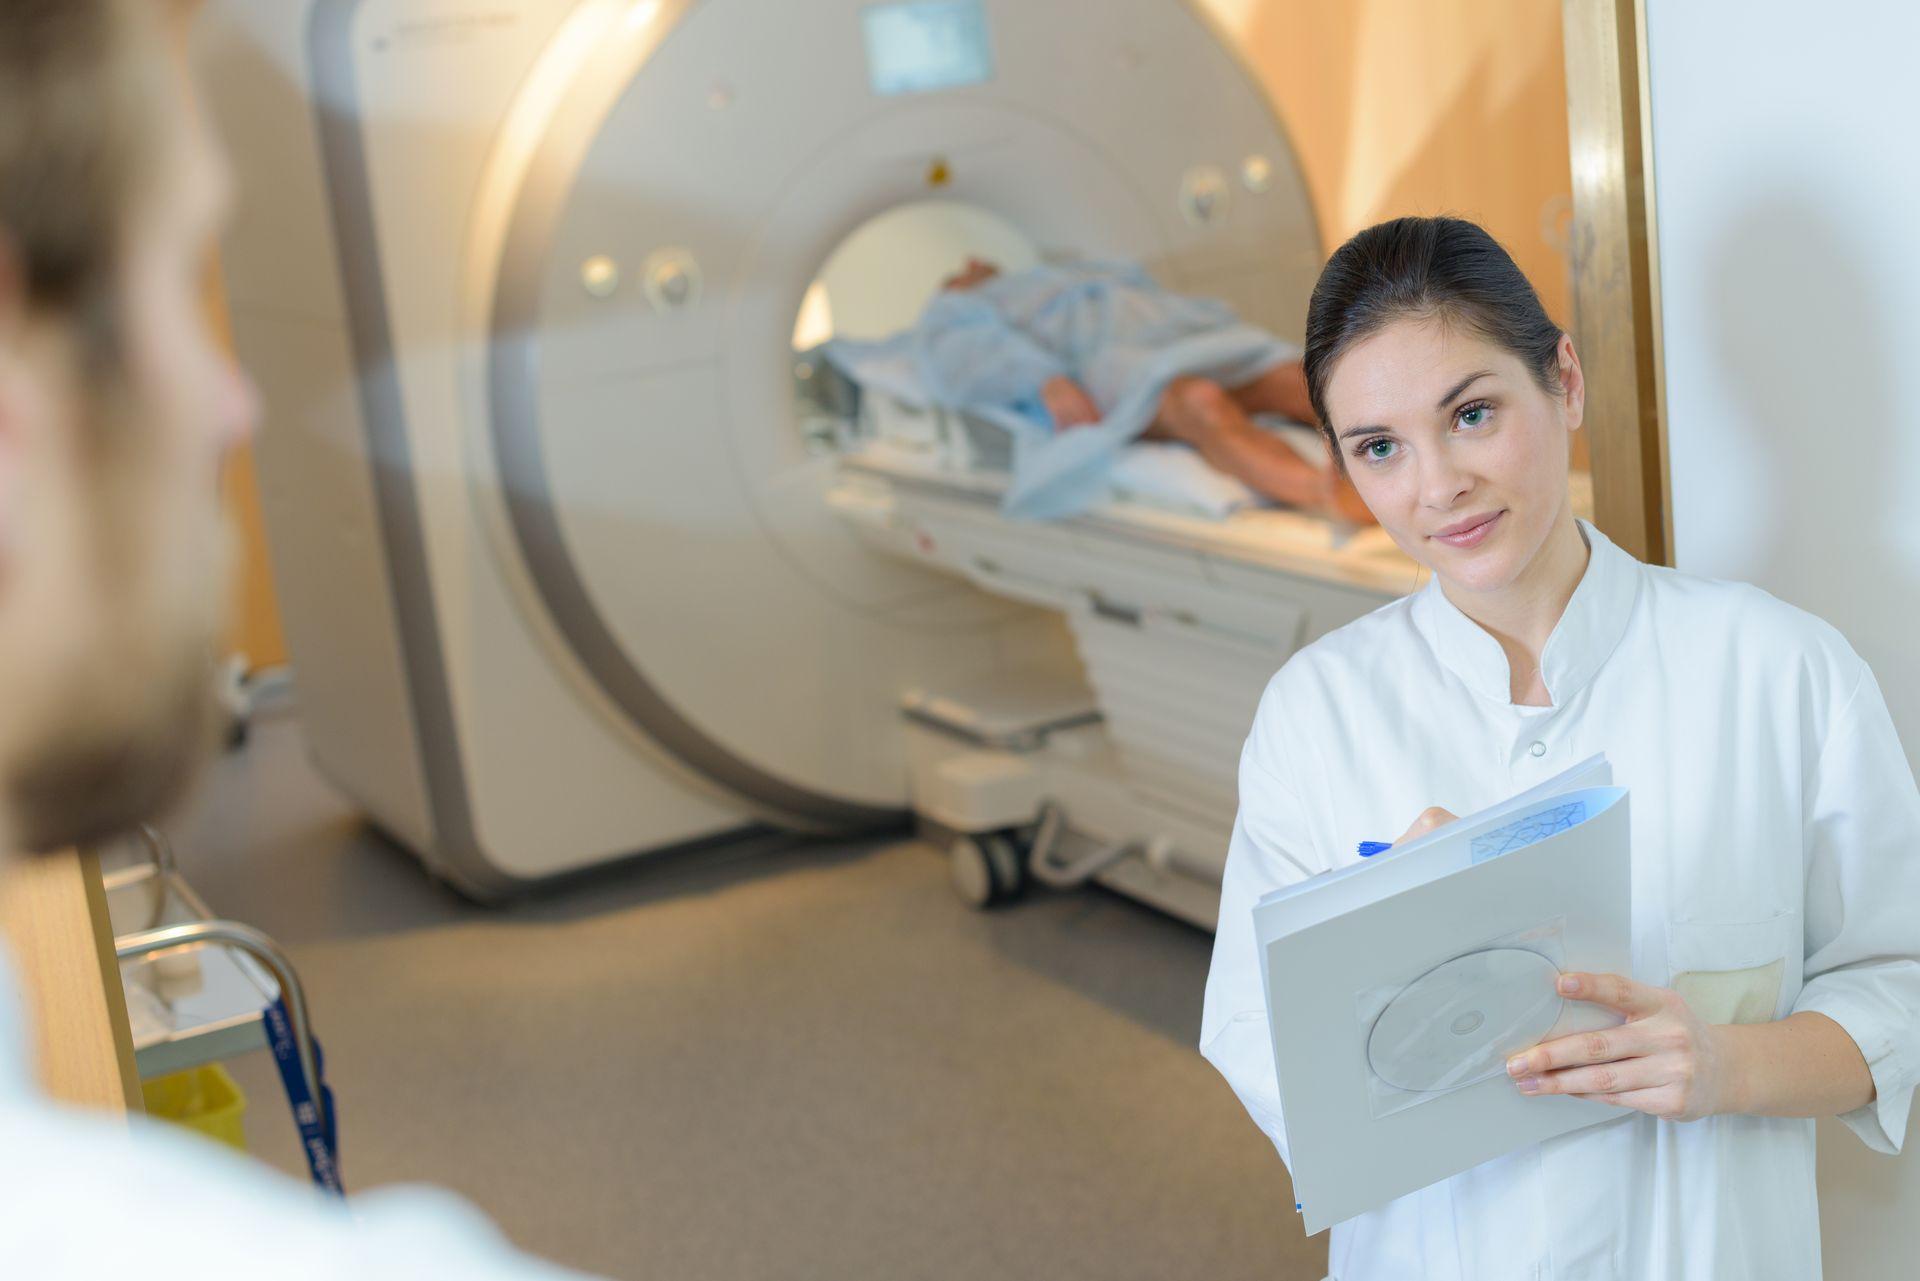
[[[1590,522],[1578,524],[1590,547],[1586,572],[1540,655],[1540,672],[1553,707],[1565,705],[1578,693],[1613,655],[1640,595],[1640,561],[1613,545]],[[1507,653],[1486,628],[1446,597],[1438,576],[1421,592],[1415,616],[1440,661],[1475,693],[1496,703],[1513,703]]]

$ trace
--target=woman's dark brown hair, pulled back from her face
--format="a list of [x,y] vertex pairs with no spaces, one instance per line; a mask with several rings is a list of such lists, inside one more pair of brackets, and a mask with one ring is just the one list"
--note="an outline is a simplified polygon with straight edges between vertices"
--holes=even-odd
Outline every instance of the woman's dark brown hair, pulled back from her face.
[[1334,250],[1308,302],[1308,398],[1336,459],[1327,421],[1334,361],[1405,317],[1459,325],[1517,355],[1542,388],[1559,392],[1561,328],[1498,240],[1457,217],[1379,223]]

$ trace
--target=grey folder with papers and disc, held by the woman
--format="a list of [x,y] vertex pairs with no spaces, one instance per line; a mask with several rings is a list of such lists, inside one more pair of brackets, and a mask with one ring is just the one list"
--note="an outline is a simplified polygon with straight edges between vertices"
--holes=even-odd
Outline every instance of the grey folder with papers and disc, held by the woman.
[[1605,757],[1254,906],[1306,1229],[1620,1116],[1526,1097],[1517,1051],[1619,1020],[1567,970],[1628,974],[1628,795]]

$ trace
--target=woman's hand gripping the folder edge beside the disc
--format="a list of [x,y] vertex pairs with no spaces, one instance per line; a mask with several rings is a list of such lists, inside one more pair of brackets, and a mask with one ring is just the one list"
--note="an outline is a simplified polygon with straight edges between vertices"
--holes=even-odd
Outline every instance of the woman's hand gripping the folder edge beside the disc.
[[1507,1060],[1528,1095],[1578,1095],[1668,1122],[1732,1112],[1720,1029],[1680,993],[1619,974],[1563,974],[1559,993],[1626,1016],[1619,1027],[1544,1041]]

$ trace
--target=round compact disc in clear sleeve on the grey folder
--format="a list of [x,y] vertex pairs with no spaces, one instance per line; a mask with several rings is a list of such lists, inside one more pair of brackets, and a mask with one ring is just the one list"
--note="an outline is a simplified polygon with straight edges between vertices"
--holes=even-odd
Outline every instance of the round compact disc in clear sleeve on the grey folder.
[[1503,1072],[1559,1022],[1559,970],[1540,953],[1494,947],[1434,966],[1373,1022],[1367,1060],[1394,1089],[1457,1089]]

